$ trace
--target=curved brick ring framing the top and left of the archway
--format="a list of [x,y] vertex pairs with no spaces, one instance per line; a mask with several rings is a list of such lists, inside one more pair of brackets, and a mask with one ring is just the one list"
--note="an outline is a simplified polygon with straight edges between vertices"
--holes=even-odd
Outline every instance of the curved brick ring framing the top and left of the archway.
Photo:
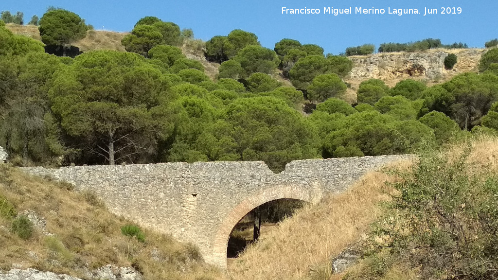
[[211,256],[205,256],[205,261],[209,264],[216,265],[222,269],[227,268],[227,247],[232,230],[247,213],[259,205],[266,202],[291,198],[316,203],[322,197],[322,191],[314,188],[304,188],[302,186],[275,186],[259,192],[246,198],[233,208],[220,224],[216,236],[213,240],[213,253]]

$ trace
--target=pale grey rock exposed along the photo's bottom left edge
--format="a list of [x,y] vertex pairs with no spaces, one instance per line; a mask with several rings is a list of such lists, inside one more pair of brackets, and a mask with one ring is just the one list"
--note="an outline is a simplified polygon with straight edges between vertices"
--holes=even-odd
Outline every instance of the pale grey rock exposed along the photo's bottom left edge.
[[[94,280],[142,280],[142,275],[132,268],[118,268],[107,265],[94,272],[89,272],[87,279]],[[41,272],[35,269],[12,269],[7,273],[0,273],[0,280],[82,280],[77,277],[52,272]]]

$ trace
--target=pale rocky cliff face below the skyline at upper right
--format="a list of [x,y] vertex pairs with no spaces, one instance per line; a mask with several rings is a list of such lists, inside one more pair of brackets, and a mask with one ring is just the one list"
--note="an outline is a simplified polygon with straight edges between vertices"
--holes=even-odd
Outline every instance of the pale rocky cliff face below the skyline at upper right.
[[[378,53],[368,56],[349,57],[354,68],[348,80],[363,81],[371,78],[381,79],[393,86],[407,79],[426,79],[428,82],[449,79],[464,72],[477,71],[479,60],[485,49],[437,49],[416,53]],[[444,67],[448,54],[458,56],[453,69]]]

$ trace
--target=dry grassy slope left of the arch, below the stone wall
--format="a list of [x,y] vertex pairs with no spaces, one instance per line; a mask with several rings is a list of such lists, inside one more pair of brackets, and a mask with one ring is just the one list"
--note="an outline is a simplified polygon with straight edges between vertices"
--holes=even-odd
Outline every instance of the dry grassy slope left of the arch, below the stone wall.
[[128,239],[121,227],[132,223],[111,214],[89,193],[71,191],[68,184],[2,164],[0,173],[0,195],[17,213],[29,209],[45,218],[46,232],[53,234],[47,236],[38,229],[24,241],[9,230],[11,221],[0,217],[0,270],[21,264],[82,278],[86,269],[112,264],[133,266],[145,279],[224,279],[220,271],[200,260],[192,245],[147,229],[142,229],[144,243]]

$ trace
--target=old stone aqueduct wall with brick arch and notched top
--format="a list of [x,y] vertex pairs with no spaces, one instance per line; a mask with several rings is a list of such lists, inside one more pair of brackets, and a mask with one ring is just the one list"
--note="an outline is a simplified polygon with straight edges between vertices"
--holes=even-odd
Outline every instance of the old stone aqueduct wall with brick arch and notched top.
[[197,245],[226,267],[234,226],[255,207],[281,198],[311,203],[340,193],[366,172],[405,156],[295,160],[280,174],[262,161],[74,166],[24,171],[91,189],[109,210]]

